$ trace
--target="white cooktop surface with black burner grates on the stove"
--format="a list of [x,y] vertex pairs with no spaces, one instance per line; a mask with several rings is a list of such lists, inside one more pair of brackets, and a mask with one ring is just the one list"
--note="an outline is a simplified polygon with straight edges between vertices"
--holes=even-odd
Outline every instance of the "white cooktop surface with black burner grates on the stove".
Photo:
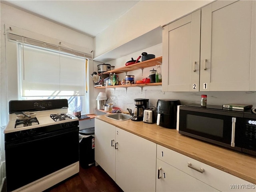
[[32,118],[32,122],[30,122],[30,119],[17,120],[15,113],[9,114],[9,122],[4,130],[4,134],[78,120],[77,117],[68,114],[67,108],[33,112],[36,113],[36,118]]

